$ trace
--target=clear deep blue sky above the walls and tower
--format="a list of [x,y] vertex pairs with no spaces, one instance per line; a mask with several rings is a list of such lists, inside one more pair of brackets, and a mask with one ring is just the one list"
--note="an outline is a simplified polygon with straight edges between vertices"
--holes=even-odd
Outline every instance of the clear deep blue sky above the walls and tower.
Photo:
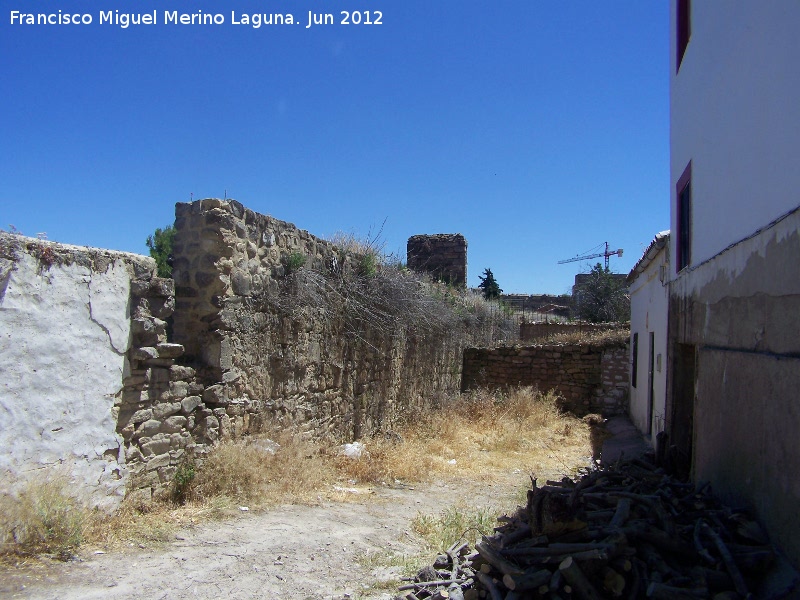
[[[339,23],[356,9],[382,24]],[[306,29],[309,10],[336,23]],[[0,18],[4,229],[146,253],[176,202],[227,193],[322,237],[385,221],[393,252],[462,233],[469,285],[489,267],[560,294],[596,261],[557,261],[608,241],[627,272],[669,227],[666,2],[5,0]]]

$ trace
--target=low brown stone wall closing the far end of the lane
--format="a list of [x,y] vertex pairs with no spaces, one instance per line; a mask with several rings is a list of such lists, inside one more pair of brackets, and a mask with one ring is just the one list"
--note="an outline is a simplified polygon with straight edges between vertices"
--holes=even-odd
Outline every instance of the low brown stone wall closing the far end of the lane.
[[555,389],[577,413],[628,410],[629,350],[625,346],[548,345],[468,348],[461,388],[536,386]]

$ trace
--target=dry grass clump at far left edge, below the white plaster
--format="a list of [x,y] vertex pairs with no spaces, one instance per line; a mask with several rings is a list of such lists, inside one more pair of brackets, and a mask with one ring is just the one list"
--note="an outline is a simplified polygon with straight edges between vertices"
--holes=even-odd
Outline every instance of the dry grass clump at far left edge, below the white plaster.
[[54,554],[68,559],[84,540],[93,515],[60,475],[35,477],[21,485],[5,481],[0,496],[2,554]]

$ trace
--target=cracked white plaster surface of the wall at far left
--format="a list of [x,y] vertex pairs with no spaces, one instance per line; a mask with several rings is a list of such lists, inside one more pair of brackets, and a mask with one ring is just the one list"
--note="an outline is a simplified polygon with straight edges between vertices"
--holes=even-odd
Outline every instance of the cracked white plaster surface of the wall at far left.
[[115,402],[127,369],[130,281],[151,262],[2,234],[0,473],[24,479],[55,467],[95,504],[122,497]]

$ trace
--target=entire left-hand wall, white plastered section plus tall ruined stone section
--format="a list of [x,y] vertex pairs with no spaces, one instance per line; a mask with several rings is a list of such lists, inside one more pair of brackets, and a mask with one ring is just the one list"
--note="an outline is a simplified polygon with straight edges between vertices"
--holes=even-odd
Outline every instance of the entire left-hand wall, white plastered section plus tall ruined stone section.
[[175,226],[174,280],[148,257],[0,234],[0,473],[58,469],[98,506],[149,499],[266,420],[347,440],[391,427],[458,391],[465,345],[505,331],[428,292],[413,309],[418,280],[235,201],[178,204]]

